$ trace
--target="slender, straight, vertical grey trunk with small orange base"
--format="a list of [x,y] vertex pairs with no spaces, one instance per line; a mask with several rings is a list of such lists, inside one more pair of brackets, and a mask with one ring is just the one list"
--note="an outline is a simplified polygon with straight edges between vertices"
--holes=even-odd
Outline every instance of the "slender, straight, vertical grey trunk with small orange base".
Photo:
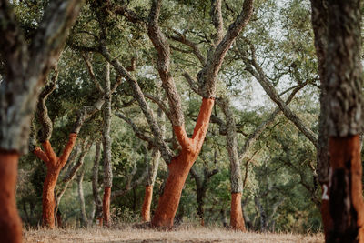
[[111,187],[113,183],[113,174],[111,166],[111,91],[110,91],[110,65],[106,64],[105,78],[105,105],[104,105],[104,129],[103,129],[103,147],[104,147],[104,198],[103,198],[103,218],[104,226],[111,225],[110,216],[110,198]]

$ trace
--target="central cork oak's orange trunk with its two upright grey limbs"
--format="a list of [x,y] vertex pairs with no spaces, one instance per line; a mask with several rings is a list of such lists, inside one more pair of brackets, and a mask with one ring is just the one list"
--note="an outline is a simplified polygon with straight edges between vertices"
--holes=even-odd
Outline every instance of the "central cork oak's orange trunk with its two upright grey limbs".
[[[170,71],[169,44],[167,43],[166,36],[162,33],[158,25],[162,1],[152,0],[151,2],[152,6],[149,12],[147,25],[148,36],[157,50],[157,71],[162,80],[163,88],[166,91],[169,101],[174,132],[178,143],[182,147],[179,155],[177,157],[173,157],[168,165],[169,174],[167,182],[164,187],[164,192],[159,198],[155,217],[152,219],[153,226],[170,228],[173,225],[173,218],[177,211],[182,187],[185,183],[189,169],[195,162],[206,136],[208,122],[211,116],[210,109],[214,105],[217,74],[220,70],[224,57],[226,56],[228,48],[242,29],[248,24],[250,16],[253,13],[253,1],[244,1],[241,13],[238,15],[237,19],[229,25],[226,35],[223,35],[224,30],[221,15],[221,1],[217,0],[213,3],[211,15],[213,24],[217,29],[217,35],[214,37],[214,45],[211,46],[211,49],[208,52],[209,54],[207,56],[205,66],[197,74],[199,94],[203,96],[203,102],[200,107],[200,114],[197,118],[197,125],[194,131],[195,134],[195,132],[200,130],[200,132],[197,132],[200,136],[197,136],[198,138],[193,137],[192,141],[187,137],[185,131],[182,105]],[[209,105],[207,105],[207,101],[210,103]],[[204,114],[206,115],[204,119],[199,120],[201,118],[200,115]],[[200,129],[201,127],[199,126],[198,121],[207,123],[206,128]],[[194,145],[195,143],[198,145],[197,147]]]

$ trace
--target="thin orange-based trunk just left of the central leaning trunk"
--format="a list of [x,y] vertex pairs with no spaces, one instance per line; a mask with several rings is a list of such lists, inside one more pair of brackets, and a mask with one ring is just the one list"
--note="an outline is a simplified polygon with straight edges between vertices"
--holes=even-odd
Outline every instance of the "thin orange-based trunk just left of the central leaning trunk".
[[146,192],[144,194],[143,206],[142,206],[142,220],[144,222],[150,221],[150,206],[153,197],[153,187],[157,177],[157,171],[159,167],[160,152],[157,147],[153,147],[152,160],[148,165],[148,175],[146,183]]

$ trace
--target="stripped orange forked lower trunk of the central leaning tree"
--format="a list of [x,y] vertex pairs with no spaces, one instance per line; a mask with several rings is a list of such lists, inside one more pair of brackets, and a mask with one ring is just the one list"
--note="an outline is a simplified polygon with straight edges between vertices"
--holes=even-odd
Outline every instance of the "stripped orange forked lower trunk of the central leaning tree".
[[152,225],[155,227],[171,228],[173,226],[182,188],[205,140],[213,106],[214,99],[203,98],[192,138],[187,137],[185,127],[173,127],[182,150],[168,165],[167,182],[163,194],[159,197],[156,214],[152,219]]

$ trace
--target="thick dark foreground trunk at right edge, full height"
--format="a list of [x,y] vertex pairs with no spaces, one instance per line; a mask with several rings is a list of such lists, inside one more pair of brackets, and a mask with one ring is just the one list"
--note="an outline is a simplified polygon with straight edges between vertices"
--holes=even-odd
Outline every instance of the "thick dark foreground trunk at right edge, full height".
[[329,242],[364,242],[361,1],[330,1],[326,57],[329,128]]

